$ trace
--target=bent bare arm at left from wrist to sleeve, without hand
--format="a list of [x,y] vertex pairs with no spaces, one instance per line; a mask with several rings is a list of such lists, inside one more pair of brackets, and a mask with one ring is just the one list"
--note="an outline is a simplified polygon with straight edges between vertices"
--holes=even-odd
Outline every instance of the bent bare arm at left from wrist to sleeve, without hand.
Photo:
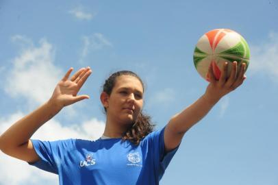
[[40,108],[14,123],[0,136],[0,149],[9,156],[36,162],[39,160],[31,143],[31,136],[40,126],[49,121],[62,108],[56,106],[50,100]]

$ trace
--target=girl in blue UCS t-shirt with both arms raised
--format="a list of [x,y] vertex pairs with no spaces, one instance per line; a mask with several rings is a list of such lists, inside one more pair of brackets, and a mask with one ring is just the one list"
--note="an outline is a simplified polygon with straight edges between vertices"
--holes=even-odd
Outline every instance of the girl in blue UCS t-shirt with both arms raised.
[[62,108],[89,98],[77,93],[92,71],[89,67],[80,69],[70,77],[72,71],[69,69],[58,83],[49,101],[0,137],[1,151],[58,174],[60,184],[159,184],[184,134],[246,78],[245,64],[237,69],[233,62],[229,78],[225,64],[219,80],[210,67],[210,84],[204,95],[173,116],[161,130],[153,132],[150,117],[142,113],[142,80],[131,71],[118,71],[106,79],[100,96],[106,112],[101,138],[31,140],[34,132]]

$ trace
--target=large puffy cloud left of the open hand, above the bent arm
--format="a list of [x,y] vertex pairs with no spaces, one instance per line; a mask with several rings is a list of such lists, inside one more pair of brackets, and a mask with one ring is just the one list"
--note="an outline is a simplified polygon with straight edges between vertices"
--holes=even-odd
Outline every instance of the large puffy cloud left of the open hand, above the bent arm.
[[24,97],[29,103],[33,102],[31,104],[44,103],[62,78],[62,70],[53,65],[55,52],[52,45],[41,39],[39,46],[34,47],[33,42],[23,36],[14,36],[12,40],[21,43],[23,49],[13,60],[5,92],[12,97]]

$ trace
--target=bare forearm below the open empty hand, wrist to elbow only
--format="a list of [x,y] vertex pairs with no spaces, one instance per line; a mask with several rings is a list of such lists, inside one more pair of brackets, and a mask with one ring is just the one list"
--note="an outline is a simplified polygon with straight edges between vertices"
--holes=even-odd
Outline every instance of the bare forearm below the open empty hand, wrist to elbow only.
[[26,143],[40,126],[49,121],[62,108],[47,101],[42,106],[16,121],[0,136],[0,149],[18,147]]

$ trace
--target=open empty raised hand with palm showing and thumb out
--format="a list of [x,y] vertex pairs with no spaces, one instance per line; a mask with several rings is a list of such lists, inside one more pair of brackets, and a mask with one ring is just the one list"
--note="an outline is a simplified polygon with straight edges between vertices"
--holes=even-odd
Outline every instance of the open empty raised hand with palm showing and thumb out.
[[69,69],[66,75],[58,82],[50,99],[50,101],[60,108],[89,98],[88,95],[77,95],[77,93],[92,73],[92,70],[90,67],[81,68],[69,79],[72,71],[73,68]]

